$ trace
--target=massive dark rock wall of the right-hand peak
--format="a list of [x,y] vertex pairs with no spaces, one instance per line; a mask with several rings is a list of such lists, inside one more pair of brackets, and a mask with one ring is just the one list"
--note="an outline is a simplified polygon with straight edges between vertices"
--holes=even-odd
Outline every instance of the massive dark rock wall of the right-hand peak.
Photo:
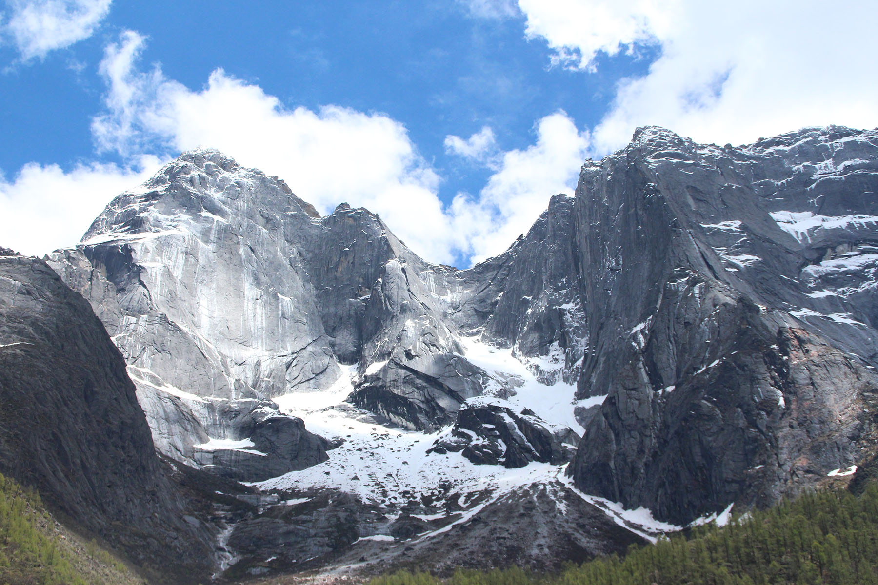
[[646,128],[587,163],[579,396],[607,398],[579,489],[682,524],[859,459],[878,388],[876,171],[878,132],[844,128],[724,149]]

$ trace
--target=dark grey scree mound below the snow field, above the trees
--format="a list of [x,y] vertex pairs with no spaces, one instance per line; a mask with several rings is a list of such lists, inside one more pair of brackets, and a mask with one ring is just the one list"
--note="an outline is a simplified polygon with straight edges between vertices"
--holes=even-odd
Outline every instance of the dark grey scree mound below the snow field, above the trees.
[[363,575],[405,567],[443,577],[461,567],[516,566],[557,572],[565,562],[622,554],[630,545],[646,542],[623,521],[611,519],[560,482],[524,485],[483,504],[468,522],[445,530],[430,525],[435,521],[410,517],[420,537],[400,534],[392,541],[363,539],[335,563],[359,564]]

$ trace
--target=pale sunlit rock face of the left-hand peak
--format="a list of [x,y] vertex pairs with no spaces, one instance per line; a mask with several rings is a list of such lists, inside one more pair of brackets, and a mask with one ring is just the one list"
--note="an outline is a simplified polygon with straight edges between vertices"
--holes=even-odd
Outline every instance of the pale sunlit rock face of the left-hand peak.
[[[282,422],[270,401],[339,375],[280,227],[316,215],[284,182],[194,152],[117,197],[83,244],[54,253],[126,357],[162,453],[248,480],[326,459],[325,441],[299,419]],[[240,446],[256,439],[266,451]]]

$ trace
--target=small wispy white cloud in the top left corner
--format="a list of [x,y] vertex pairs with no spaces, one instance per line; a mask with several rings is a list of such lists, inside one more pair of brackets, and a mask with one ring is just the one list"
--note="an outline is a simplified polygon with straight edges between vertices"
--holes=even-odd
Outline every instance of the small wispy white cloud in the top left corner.
[[25,61],[88,39],[112,0],[7,0],[2,27]]

